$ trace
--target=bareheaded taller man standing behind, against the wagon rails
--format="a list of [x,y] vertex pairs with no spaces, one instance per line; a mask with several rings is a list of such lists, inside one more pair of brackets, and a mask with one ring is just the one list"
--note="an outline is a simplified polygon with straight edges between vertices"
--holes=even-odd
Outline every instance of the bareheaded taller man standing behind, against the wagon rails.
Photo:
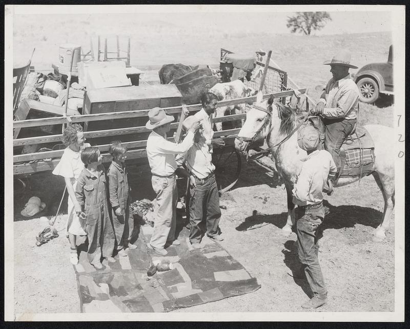
[[206,143],[209,146],[209,150],[212,153],[212,144],[216,147],[225,146],[225,142],[221,138],[213,139],[213,123],[212,116],[215,113],[216,105],[218,104],[218,98],[212,92],[205,92],[201,96],[202,109],[194,114],[203,127],[203,137],[206,139]]

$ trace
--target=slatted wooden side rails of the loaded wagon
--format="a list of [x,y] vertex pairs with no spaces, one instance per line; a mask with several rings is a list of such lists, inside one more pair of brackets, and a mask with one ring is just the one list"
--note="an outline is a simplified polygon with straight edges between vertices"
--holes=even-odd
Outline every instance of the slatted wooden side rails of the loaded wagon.
[[[299,92],[305,92],[305,89],[298,89]],[[263,99],[268,99],[271,95],[274,95],[275,98],[283,98],[286,96],[291,96],[293,90],[286,90],[272,94],[263,95]],[[222,101],[218,103],[218,107],[236,105],[243,103],[253,103],[256,101],[256,96],[251,96],[247,98],[239,98],[229,101]],[[198,111],[202,108],[200,104],[187,105],[186,108],[190,112]],[[169,114],[180,113],[182,106],[168,107],[164,108]],[[31,120],[20,120],[13,122],[13,129],[24,128],[24,127],[38,127],[43,125],[55,125],[55,124],[67,124],[68,122],[72,123],[81,123],[81,122],[90,122],[90,121],[101,121],[101,120],[115,120],[115,119],[127,119],[127,118],[136,118],[136,117],[147,117],[149,109],[146,110],[134,110],[134,111],[122,111],[122,112],[108,112],[108,113],[98,113],[98,114],[84,114],[84,115],[73,115],[71,117],[60,117],[60,118],[43,118],[43,119],[31,119]],[[236,121],[245,118],[245,113],[243,114],[232,114],[226,115],[221,118],[213,119],[213,122],[229,122]],[[178,123],[172,123],[171,129],[176,129]],[[214,137],[220,137],[226,142],[235,139],[239,132],[240,128],[228,129],[215,131]],[[87,131],[84,133],[86,138],[98,138],[98,137],[107,137],[107,136],[121,136],[130,133],[140,133],[148,132],[145,126],[140,127],[130,127],[130,128],[119,128],[119,129],[107,129],[107,130],[96,130],[96,131]],[[32,145],[32,144],[45,144],[52,142],[60,142],[62,139],[61,134],[51,135],[51,136],[39,136],[39,137],[30,137],[22,139],[14,139],[13,146],[22,146],[22,145]],[[173,140],[173,138],[169,138]],[[133,141],[124,143],[129,151],[127,152],[127,159],[141,159],[146,158],[145,147],[147,145],[147,140],[142,141]],[[110,154],[107,153],[109,145],[95,145],[101,151],[103,156],[103,162],[111,161]],[[47,171],[53,170],[56,164],[59,161],[59,158],[62,156],[64,150],[53,150],[45,152],[34,152],[27,154],[15,154],[13,156],[13,173],[14,175],[22,175],[27,173],[33,173],[38,171]]]

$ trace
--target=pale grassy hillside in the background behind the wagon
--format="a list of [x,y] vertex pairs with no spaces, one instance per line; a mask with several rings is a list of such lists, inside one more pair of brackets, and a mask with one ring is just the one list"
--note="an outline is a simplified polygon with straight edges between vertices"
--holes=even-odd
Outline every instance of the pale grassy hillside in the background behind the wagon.
[[[16,15],[13,26],[14,61],[27,61],[35,47],[32,64],[36,70],[50,70],[58,61],[58,47],[75,43],[90,50],[90,39],[97,48],[97,35],[109,36],[109,50],[116,50],[116,34],[131,37],[131,65],[141,69],[160,67],[162,64],[219,65],[220,48],[235,52],[252,53],[256,49],[272,50],[272,59],[300,87],[308,87],[314,99],[315,87],[324,85],[330,78],[330,67],[322,65],[341,48],[352,52],[352,63],[359,68],[366,63],[385,62],[392,43],[389,32],[357,33],[323,36],[275,34],[275,26],[264,33],[228,34],[210,26],[206,30],[195,26],[181,28],[160,20],[150,20],[149,15]],[[121,45],[126,49],[126,44]],[[102,48],[101,48],[102,49]],[[157,70],[157,69],[156,69]],[[157,73],[151,71],[157,79]],[[357,70],[351,70],[355,73]],[[384,121],[380,110],[362,106],[364,115],[373,115]],[[392,113],[392,110],[387,110]],[[392,115],[392,114],[390,114]],[[379,119],[377,119],[379,120]]]

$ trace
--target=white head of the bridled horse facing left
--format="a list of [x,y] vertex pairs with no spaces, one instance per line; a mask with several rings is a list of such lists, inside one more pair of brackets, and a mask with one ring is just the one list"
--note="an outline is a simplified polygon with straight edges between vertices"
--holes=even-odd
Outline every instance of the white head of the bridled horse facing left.
[[235,148],[241,153],[248,152],[252,143],[267,137],[271,129],[272,103],[274,97],[262,100],[259,92],[255,104],[247,112],[247,118],[235,139]]

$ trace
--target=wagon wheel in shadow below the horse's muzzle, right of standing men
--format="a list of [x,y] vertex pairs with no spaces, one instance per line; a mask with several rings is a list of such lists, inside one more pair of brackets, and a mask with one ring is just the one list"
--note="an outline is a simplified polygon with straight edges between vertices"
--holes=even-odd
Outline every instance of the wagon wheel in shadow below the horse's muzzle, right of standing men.
[[220,193],[229,191],[238,181],[242,160],[234,146],[214,148],[212,163],[215,165],[215,179]]

